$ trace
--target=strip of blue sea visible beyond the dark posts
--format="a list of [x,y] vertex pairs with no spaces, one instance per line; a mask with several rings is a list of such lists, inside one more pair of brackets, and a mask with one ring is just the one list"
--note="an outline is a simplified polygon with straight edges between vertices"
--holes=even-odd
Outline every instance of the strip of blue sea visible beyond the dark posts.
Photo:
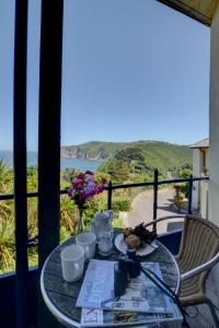
[[[10,166],[13,166],[13,152],[12,151],[1,151],[0,150],[0,161],[3,160]],[[67,159],[61,157],[61,169],[67,167],[73,167],[81,171],[93,171],[95,172],[103,161],[97,160],[87,160],[87,159]],[[27,152],[27,166],[37,165],[37,153],[36,152]]]

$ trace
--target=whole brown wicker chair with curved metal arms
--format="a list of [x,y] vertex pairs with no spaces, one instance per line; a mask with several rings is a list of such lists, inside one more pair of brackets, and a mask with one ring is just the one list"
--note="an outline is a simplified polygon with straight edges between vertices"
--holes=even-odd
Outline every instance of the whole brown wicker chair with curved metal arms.
[[180,253],[175,257],[181,270],[181,303],[185,307],[208,304],[215,325],[219,327],[215,306],[205,293],[208,273],[219,261],[219,227],[205,219],[188,214],[162,216],[145,226],[177,218],[184,219]]

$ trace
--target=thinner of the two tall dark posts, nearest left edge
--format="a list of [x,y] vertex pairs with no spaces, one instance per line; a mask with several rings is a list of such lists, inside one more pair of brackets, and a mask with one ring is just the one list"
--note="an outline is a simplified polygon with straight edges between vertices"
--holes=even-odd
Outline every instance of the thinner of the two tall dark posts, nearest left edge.
[[[26,66],[28,0],[15,1],[13,150],[15,211],[15,327],[26,328],[27,300],[27,204],[26,204]],[[0,325],[1,326],[1,325]]]

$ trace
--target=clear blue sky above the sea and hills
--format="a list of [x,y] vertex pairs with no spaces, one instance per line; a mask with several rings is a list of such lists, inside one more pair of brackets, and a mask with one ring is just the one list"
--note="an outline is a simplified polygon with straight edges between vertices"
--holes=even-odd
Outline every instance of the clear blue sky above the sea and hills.
[[[27,145],[37,149],[41,3],[30,1]],[[0,0],[0,149],[12,148],[14,0]],[[210,30],[155,0],[65,0],[61,143],[208,136]]]

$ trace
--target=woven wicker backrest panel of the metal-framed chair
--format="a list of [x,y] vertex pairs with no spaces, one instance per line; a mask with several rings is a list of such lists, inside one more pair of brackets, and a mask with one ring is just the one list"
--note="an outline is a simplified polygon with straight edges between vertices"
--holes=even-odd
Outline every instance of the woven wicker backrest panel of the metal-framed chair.
[[[176,256],[182,273],[209,261],[219,251],[219,227],[195,215],[186,215],[180,253]],[[209,270],[199,273],[204,283]]]

